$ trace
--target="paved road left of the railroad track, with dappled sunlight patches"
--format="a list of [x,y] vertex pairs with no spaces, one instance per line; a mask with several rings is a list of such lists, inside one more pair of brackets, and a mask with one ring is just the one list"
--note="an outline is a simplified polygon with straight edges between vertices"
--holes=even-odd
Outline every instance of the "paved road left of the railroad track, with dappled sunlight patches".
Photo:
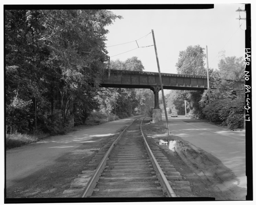
[[115,135],[135,118],[116,120],[88,128],[81,127],[80,130],[67,135],[53,136],[27,146],[8,150],[5,169],[6,187],[11,187],[19,179],[54,164],[57,158],[80,147],[82,143],[95,143],[96,140]]

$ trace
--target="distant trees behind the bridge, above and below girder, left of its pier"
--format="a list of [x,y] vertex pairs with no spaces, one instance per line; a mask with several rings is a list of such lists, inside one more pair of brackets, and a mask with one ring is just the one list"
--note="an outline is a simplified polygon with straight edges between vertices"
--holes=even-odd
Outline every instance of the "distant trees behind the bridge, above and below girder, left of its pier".
[[[142,71],[144,66],[138,57],[133,56],[125,61],[110,60],[109,68]],[[149,89],[101,88],[95,98],[99,102],[99,112],[125,118],[147,113],[152,107],[153,96]]]

